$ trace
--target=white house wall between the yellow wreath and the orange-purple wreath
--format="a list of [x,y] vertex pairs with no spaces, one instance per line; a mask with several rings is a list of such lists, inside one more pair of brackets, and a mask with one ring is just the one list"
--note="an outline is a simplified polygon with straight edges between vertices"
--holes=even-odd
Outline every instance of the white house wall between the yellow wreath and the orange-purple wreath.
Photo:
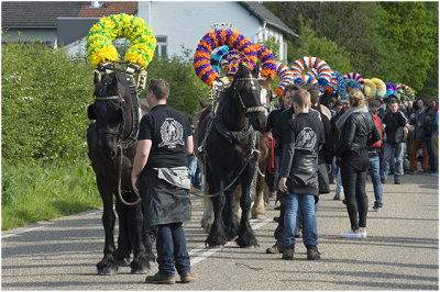
[[194,53],[215,23],[232,23],[251,42],[261,27],[258,20],[237,2],[141,1],[139,16],[156,36],[167,37],[168,55],[182,55],[182,45]]

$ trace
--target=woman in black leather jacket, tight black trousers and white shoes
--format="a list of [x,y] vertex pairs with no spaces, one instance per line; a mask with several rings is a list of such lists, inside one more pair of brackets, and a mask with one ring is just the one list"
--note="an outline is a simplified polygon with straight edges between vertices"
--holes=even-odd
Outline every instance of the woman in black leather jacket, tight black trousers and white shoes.
[[[369,199],[365,192],[367,147],[381,139],[373,115],[365,106],[364,94],[359,89],[349,93],[351,109],[336,123],[340,133],[337,156],[340,159],[341,178],[351,229],[340,236],[345,238],[366,237]],[[371,138],[369,138],[369,136]]]

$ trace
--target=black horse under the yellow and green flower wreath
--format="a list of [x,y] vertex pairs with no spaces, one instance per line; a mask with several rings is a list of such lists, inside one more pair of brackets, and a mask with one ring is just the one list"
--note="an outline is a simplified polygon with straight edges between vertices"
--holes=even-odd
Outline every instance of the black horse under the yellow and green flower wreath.
[[[129,68],[129,67],[128,67]],[[130,262],[132,273],[147,273],[155,257],[152,238],[143,232],[142,204],[131,187],[131,170],[136,151],[139,114],[133,105],[138,101],[131,70],[118,71],[114,65],[95,71],[95,102],[88,108],[88,156],[96,173],[103,203],[102,225],[106,233],[103,258],[97,263],[99,274],[113,274],[119,266]],[[114,247],[113,194],[119,218],[118,249]],[[122,202],[122,200],[124,202]],[[131,203],[125,203],[131,202]]]

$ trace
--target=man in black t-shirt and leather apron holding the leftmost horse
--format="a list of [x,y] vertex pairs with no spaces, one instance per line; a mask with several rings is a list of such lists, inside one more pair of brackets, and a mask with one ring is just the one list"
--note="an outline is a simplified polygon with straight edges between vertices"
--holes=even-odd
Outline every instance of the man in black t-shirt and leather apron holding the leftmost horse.
[[169,85],[151,79],[146,100],[151,112],[141,120],[132,184],[141,195],[145,232],[157,231],[158,272],[147,283],[174,284],[175,269],[184,283],[193,282],[184,221],[191,216],[187,154],[193,153],[188,117],[166,104]]

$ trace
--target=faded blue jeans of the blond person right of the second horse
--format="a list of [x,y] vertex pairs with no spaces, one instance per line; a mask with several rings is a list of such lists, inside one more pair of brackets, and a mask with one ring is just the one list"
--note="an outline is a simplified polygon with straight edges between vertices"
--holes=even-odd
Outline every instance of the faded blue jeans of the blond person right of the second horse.
[[286,195],[286,213],[284,214],[283,245],[288,246],[296,243],[295,228],[299,205],[304,215],[302,242],[306,246],[318,245],[318,226],[315,212],[315,196],[312,194]]

